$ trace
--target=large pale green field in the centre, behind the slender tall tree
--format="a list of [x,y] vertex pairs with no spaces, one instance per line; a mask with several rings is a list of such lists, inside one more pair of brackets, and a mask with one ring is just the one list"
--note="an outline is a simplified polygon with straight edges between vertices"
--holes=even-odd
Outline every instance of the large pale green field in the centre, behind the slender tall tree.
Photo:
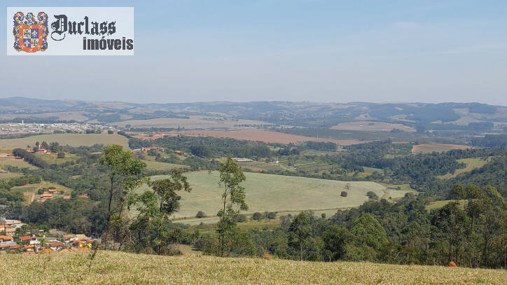
[[[221,193],[223,188],[218,186],[218,172],[189,172],[188,181],[192,192],[179,193],[181,195],[181,209],[174,218],[193,218],[197,211],[204,211],[209,216],[216,215],[221,208]],[[242,185],[246,188],[246,202],[252,214],[256,211],[278,211],[293,213],[297,211],[315,210],[334,213],[340,208],[358,207],[368,197],[366,193],[373,191],[382,197],[387,191],[386,186],[375,182],[333,181],[296,176],[282,176],[272,174],[245,173],[246,181]],[[152,179],[163,179],[165,176],[153,176]],[[347,189],[349,184],[349,189]],[[147,186],[141,186],[141,190]],[[347,197],[341,197],[341,191],[347,191]],[[401,190],[398,197],[407,193]],[[399,195],[398,195],[399,194]]]

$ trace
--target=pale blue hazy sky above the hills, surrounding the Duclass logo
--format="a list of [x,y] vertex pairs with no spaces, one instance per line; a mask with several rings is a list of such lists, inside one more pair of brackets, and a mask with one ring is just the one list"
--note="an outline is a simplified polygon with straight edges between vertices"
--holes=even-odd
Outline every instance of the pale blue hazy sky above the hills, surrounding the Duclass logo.
[[133,6],[135,55],[8,57],[4,27],[0,97],[507,106],[507,1],[2,3]]

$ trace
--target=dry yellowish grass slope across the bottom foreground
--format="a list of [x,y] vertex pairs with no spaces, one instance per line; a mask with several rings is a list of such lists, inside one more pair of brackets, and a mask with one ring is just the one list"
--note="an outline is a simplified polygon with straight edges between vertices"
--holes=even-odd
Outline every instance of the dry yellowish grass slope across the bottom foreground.
[[[504,270],[99,251],[0,256],[2,284],[502,284]],[[502,281],[503,280],[503,281]]]

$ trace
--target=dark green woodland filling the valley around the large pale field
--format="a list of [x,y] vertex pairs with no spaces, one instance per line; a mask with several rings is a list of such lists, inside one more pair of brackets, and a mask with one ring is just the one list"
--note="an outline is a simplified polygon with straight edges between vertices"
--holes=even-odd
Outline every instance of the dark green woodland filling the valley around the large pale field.
[[[506,148],[494,146],[447,153],[410,154],[411,145],[376,141],[347,146],[338,151],[332,143],[298,145],[263,144],[202,137],[164,137],[141,141],[130,138],[131,148],[160,146],[165,151],[147,155],[155,161],[189,165],[191,169],[216,169],[221,173],[223,207],[216,209],[220,221],[213,233],[202,234],[202,225],[189,226],[171,221],[179,209],[180,191],[191,191],[183,169],[173,169],[169,178],[148,182],[151,190],[136,193],[150,174],[137,156],[120,146],[62,147],[55,150],[78,155],[73,161],[49,165],[23,149],[15,154],[39,169],[17,169],[23,176],[0,180],[1,211],[7,218],[20,218],[32,227],[58,228],[102,237],[104,246],[153,254],[178,254],[174,244],[190,244],[217,256],[263,256],[298,260],[369,260],[381,263],[445,265],[454,260],[460,266],[505,267],[507,251]],[[174,151],[191,153],[176,160]],[[302,154],[317,151],[316,154]],[[321,153],[319,153],[321,152]],[[310,152],[311,153],[311,152]],[[315,173],[298,169],[276,174],[321,179],[364,180],[382,183],[410,183],[419,191],[395,203],[370,200],[357,209],[338,211],[333,216],[303,212],[278,216],[275,229],[242,230],[249,217],[242,187],[243,170],[232,159],[277,158],[318,162],[331,168]],[[451,179],[464,165],[461,158],[492,158],[483,167]],[[359,176],[364,167],[378,171]],[[161,172],[157,173],[160,174]],[[14,186],[50,181],[72,189],[71,199],[55,198],[43,203],[24,204]],[[78,199],[86,194],[90,199]],[[426,205],[449,200],[439,209]],[[127,214],[137,209],[136,215]],[[272,219],[276,213],[256,213],[251,218]]]

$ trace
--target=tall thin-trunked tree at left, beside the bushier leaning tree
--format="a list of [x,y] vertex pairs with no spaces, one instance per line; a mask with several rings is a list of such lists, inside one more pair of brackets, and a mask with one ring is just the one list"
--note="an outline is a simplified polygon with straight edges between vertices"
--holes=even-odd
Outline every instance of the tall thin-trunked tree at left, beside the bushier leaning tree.
[[113,215],[121,219],[125,201],[132,194],[132,190],[141,185],[146,164],[132,157],[130,151],[123,151],[122,146],[116,144],[104,146],[99,163],[106,167],[109,188],[107,192],[107,216],[104,246],[108,247],[111,218]]

